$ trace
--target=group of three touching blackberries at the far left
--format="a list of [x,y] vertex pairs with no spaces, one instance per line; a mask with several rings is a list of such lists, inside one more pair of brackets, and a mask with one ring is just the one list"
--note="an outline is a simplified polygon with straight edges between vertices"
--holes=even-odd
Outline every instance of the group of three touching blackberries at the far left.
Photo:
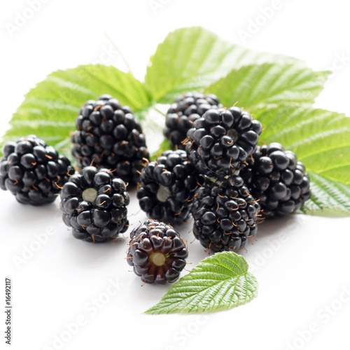
[[52,146],[30,135],[3,146],[0,186],[24,204],[50,203],[60,193],[63,220],[74,237],[110,240],[127,230],[125,182],[137,183],[148,162],[145,137],[130,107],[110,95],[87,101],[76,126],[72,153],[81,174],[74,174],[69,160]]

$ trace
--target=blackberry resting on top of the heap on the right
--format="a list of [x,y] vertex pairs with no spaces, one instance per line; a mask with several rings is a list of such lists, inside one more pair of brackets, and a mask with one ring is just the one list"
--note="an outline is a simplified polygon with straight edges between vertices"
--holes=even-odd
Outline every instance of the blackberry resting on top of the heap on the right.
[[235,174],[255,150],[261,131],[260,122],[238,107],[209,109],[188,130],[188,158],[210,177]]

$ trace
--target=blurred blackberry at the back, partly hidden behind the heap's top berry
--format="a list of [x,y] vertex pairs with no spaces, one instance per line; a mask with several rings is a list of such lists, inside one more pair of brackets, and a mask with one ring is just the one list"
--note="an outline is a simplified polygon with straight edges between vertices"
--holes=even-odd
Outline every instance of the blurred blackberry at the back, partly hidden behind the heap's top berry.
[[172,142],[176,149],[184,150],[186,145],[181,142],[195,120],[203,116],[208,109],[222,108],[215,94],[200,94],[186,92],[181,94],[167,111],[165,120],[165,137]]

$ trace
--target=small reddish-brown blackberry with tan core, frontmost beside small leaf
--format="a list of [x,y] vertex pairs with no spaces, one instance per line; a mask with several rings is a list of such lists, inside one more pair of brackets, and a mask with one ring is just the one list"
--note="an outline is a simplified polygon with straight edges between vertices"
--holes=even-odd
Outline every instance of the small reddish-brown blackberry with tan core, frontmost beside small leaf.
[[188,251],[179,232],[155,220],[132,230],[127,262],[144,283],[172,283],[186,266]]

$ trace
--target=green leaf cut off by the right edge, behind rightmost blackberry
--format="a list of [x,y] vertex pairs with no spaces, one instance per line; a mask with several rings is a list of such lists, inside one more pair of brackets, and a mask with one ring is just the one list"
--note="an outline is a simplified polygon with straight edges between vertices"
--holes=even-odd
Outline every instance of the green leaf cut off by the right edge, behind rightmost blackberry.
[[304,163],[311,178],[307,214],[350,214],[350,118],[295,104],[253,111],[264,125],[260,141],[279,142]]

